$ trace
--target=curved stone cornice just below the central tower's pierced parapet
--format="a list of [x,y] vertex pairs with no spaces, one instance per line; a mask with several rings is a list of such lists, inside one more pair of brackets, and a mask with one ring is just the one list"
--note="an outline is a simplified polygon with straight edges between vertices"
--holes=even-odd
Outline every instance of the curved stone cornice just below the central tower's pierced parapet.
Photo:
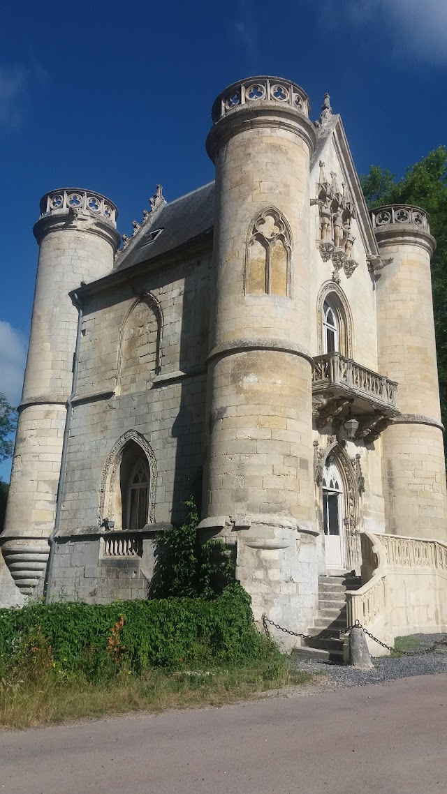
[[317,146],[317,130],[305,114],[288,105],[259,99],[258,102],[238,106],[231,114],[216,122],[206,142],[208,156],[215,162],[219,148],[231,137],[247,129],[262,127],[286,129],[297,135],[308,145],[310,155]]

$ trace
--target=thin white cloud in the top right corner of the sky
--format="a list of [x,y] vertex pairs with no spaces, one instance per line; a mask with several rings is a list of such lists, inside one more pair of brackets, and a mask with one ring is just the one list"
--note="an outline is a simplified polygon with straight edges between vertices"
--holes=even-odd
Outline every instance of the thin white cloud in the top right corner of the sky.
[[323,0],[321,24],[348,24],[363,36],[376,29],[395,56],[447,63],[447,0]]

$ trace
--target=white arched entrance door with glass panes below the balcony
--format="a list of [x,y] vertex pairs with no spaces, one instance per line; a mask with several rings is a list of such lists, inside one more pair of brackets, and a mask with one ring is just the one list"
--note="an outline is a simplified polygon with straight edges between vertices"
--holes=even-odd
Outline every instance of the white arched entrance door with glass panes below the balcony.
[[329,455],[323,469],[323,530],[326,568],[344,570],[346,565],[344,482],[335,459]]

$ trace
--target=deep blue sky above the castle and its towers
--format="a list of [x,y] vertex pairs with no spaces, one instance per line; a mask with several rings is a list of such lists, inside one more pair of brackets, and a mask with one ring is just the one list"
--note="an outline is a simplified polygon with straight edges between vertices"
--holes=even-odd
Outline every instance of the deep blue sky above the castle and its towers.
[[256,74],[299,83],[313,118],[328,91],[358,171],[401,174],[447,143],[446,40],[446,0],[2,3],[0,390],[19,402],[45,191],[99,191],[130,233],[156,183],[213,178],[212,102]]

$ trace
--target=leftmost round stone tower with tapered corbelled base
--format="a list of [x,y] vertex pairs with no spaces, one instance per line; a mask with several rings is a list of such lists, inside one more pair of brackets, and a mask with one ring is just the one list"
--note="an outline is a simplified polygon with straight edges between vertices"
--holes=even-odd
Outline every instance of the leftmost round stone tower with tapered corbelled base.
[[98,193],[51,191],[33,229],[40,252],[2,534],[3,557],[23,593],[41,579],[54,526],[78,318],[68,292],[111,271],[119,246],[117,214]]

